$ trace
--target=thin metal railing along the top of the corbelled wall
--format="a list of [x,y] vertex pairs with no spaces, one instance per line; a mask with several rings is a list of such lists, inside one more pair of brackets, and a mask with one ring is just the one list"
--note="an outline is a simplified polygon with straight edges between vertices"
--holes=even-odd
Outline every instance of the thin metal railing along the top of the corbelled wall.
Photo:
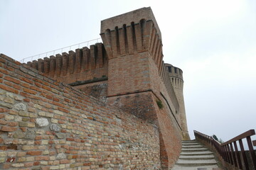
[[65,50],[65,49],[75,50],[77,48],[80,48],[80,46],[82,44],[85,44],[86,47],[89,47],[89,45],[92,45],[93,43],[98,43],[98,42],[102,42],[101,38],[96,38],[96,39],[93,39],[93,40],[88,40],[88,41],[85,41],[85,42],[80,42],[78,44],[70,45],[68,47],[62,47],[62,48],[59,48],[59,49],[56,49],[56,50],[51,50],[51,51],[48,51],[48,52],[43,52],[43,53],[41,53],[39,55],[33,55],[31,57],[26,57],[26,58],[23,58],[20,62],[23,63],[23,62],[26,62],[26,61],[38,60],[38,59],[43,58],[43,57],[49,57],[50,55],[55,55],[56,52],[62,53],[63,50]]

